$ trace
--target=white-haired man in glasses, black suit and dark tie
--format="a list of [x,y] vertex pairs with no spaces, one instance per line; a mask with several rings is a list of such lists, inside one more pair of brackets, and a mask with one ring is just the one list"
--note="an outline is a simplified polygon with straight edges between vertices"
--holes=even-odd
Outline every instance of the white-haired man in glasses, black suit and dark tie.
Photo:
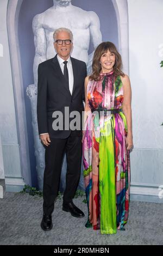
[[[84,80],[86,64],[70,57],[73,46],[72,32],[59,28],[54,32],[57,55],[39,64],[37,121],[41,142],[45,145],[45,173],[43,177],[43,218],[41,228],[51,230],[54,200],[57,197],[64,153],[67,159],[66,188],[62,210],[74,217],[84,213],[73,204],[72,199],[80,179],[82,160],[82,111],[84,111]],[[80,113],[80,130],[65,124],[65,107],[69,112]],[[63,116],[63,129],[56,130],[55,111]],[[55,118],[53,118],[55,116]],[[66,115],[67,118],[67,115]],[[69,120],[68,126],[72,119]]]

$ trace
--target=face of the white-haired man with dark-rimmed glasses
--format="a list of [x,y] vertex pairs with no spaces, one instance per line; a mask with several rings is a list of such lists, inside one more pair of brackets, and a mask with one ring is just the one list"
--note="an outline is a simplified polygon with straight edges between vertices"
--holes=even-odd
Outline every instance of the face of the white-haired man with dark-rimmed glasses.
[[[66,31],[59,32],[55,38],[55,40],[66,40],[66,39],[71,40],[70,34]],[[67,60],[71,53],[72,42],[70,45],[66,45],[65,41],[63,41],[62,45],[59,45],[57,42],[54,42],[54,48],[55,48],[55,51],[58,53],[58,55],[62,59]]]

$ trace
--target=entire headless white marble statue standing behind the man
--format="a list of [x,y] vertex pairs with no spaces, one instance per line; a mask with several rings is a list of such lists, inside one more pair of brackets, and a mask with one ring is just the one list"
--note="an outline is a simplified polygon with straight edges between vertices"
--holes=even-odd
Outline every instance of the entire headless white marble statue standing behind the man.
[[[54,0],[53,7],[33,19],[33,33],[35,44],[35,57],[33,65],[34,84],[27,88],[27,95],[32,105],[32,125],[34,131],[36,169],[39,187],[42,188],[44,172],[44,148],[40,142],[37,130],[36,101],[37,101],[37,67],[39,63],[53,58],[55,50],[53,46],[53,33],[59,27],[69,28],[73,33],[73,50],[71,56],[83,60],[87,65],[87,73],[91,72],[92,57],[94,51],[89,55],[90,40],[93,48],[102,42],[100,23],[97,14],[93,11],[85,11],[71,4],[71,0]],[[66,160],[64,166],[66,168]],[[65,180],[62,179],[61,181]],[[62,188],[64,188],[62,184]]]

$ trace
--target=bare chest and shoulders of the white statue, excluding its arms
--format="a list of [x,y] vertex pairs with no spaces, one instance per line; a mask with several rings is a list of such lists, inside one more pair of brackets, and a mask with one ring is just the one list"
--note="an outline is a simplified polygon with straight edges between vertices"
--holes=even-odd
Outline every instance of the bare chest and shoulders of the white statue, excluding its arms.
[[90,44],[90,17],[87,11],[73,7],[59,11],[53,7],[40,14],[40,22],[45,29],[47,40],[47,59],[54,56],[53,33],[59,27],[71,29],[73,33],[73,51],[71,56],[87,63]]

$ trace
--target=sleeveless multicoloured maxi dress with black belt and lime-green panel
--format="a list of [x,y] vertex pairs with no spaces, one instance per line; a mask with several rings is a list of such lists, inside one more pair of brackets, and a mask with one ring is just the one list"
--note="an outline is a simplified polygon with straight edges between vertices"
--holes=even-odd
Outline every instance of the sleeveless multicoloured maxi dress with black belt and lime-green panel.
[[[83,140],[84,182],[89,211],[86,227],[102,234],[124,230],[128,220],[130,151],[126,149],[127,122],[122,112],[123,87],[114,71],[87,84],[91,112]],[[119,113],[96,109],[120,109]],[[93,112],[94,111],[94,112]],[[96,111],[96,112],[95,112]]]

